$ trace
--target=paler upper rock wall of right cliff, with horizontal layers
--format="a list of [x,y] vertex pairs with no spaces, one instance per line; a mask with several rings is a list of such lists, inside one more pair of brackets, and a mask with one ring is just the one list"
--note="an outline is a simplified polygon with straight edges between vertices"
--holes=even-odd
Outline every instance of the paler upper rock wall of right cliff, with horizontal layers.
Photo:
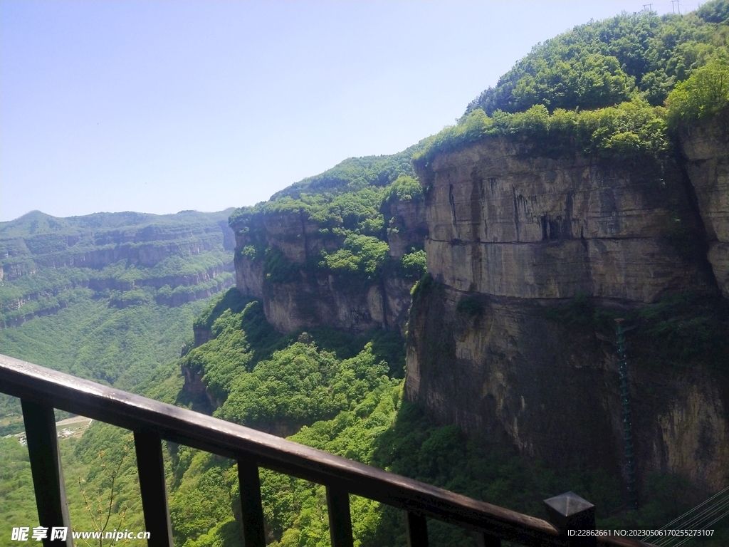
[[681,173],[598,168],[486,141],[434,160],[426,202],[428,268],[449,287],[515,298],[650,302],[706,284],[668,228],[694,220]]

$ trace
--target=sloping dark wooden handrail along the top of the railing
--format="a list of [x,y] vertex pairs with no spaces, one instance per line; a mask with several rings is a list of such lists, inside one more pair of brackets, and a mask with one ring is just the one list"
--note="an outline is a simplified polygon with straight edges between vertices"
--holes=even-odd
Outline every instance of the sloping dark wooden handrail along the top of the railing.
[[[527,546],[569,545],[567,538],[545,520],[1,354],[0,392],[133,430],[135,440],[146,439],[147,451],[152,450],[149,446],[154,446],[154,438],[161,438],[244,462],[246,469],[239,469],[241,487],[243,481],[249,484],[252,476],[257,478],[252,465],[260,466],[326,485],[327,498],[336,500],[339,508],[345,505],[341,499],[343,493],[356,494],[405,510],[413,516],[408,520],[416,524],[421,522],[418,518],[428,517]],[[241,494],[241,498],[246,496]],[[252,500],[241,501],[254,507],[255,494]],[[260,499],[257,503],[260,504]],[[346,523],[338,527],[345,528]],[[647,545],[635,540],[607,538],[598,544]]]

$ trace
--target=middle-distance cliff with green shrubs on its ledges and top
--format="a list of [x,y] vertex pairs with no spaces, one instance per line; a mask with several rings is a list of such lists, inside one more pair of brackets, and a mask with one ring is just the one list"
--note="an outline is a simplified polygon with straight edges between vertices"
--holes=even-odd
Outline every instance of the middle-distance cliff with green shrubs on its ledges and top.
[[404,333],[424,268],[422,190],[409,163],[421,147],[346,160],[230,217],[238,290],[262,299],[277,330]]

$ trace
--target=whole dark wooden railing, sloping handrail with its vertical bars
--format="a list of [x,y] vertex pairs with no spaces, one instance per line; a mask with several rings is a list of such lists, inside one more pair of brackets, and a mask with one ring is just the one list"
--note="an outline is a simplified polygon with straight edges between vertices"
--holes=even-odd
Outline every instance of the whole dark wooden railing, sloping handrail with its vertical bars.
[[[260,467],[326,486],[332,547],[353,545],[349,494],[405,511],[411,547],[427,547],[427,519],[472,530],[484,547],[500,546],[502,539],[526,546],[647,545],[620,538],[588,538],[585,542],[583,538],[569,536],[568,529],[595,526],[594,508],[582,511],[585,507],[577,507],[575,511],[570,500],[553,503],[557,510],[550,509],[555,515],[555,522],[550,523],[248,427],[4,355],[0,355],[0,392],[20,397],[39,523],[48,529],[70,529],[54,420],[54,408],[58,408],[134,432],[144,522],[150,532],[149,547],[173,544],[163,439],[238,462],[246,547],[265,547]],[[562,510],[560,503],[564,505]],[[46,546],[63,544],[72,545],[70,534],[65,542],[44,540]]]

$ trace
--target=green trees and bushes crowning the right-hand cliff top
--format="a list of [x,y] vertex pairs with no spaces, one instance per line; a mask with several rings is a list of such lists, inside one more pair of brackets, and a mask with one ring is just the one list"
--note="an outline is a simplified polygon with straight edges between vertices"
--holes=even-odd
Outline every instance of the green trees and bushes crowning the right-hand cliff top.
[[539,44],[413,160],[427,166],[438,153],[496,136],[542,154],[672,160],[669,126],[729,104],[727,5],[709,2],[682,17],[620,15]]

